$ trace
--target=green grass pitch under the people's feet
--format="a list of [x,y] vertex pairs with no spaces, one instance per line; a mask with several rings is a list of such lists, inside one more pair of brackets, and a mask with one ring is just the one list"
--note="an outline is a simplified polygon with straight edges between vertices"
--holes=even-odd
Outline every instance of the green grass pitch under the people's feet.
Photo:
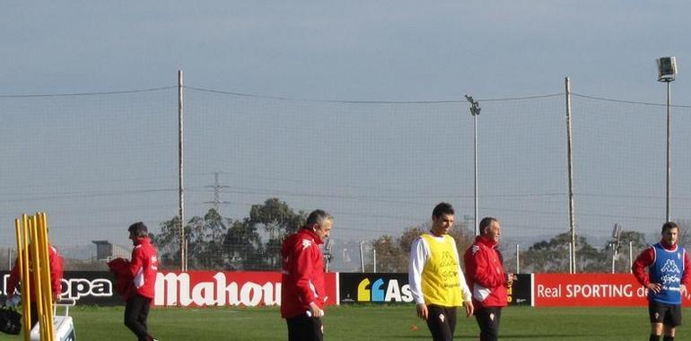
[[[70,310],[80,341],[134,340],[122,324],[124,307],[76,307]],[[460,311],[459,311],[460,312]],[[691,319],[691,309],[684,310]],[[154,309],[154,337],[170,340],[285,340],[278,309]],[[431,339],[413,305],[347,305],[329,307],[324,319],[328,340]],[[502,340],[647,340],[645,308],[527,308],[503,310]],[[0,335],[0,340],[19,340]],[[456,339],[477,339],[475,319],[459,319]],[[676,340],[691,340],[691,328],[678,328]]]

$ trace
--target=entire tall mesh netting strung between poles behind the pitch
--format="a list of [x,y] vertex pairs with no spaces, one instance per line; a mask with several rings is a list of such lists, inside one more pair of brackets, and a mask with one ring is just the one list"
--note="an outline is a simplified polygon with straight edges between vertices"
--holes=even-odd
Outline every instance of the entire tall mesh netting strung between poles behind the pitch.
[[[564,94],[479,101],[480,216],[499,218],[505,244],[523,249],[568,232]],[[39,210],[48,212],[51,239],[68,258],[96,258],[92,240],[127,247],[127,226],[136,221],[162,234],[160,224],[178,213],[177,104],[175,88],[0,97],[0,247],[13,247],[15,217]],[[691,216],[688,111],[673,109],[673,219]],[[573,96],[576,232],[593,246],[604,246],[614,223],[656,238],[665,216],[665,115],[664,105]],[[195,267],[237,268],[233,262],[249,256],[236,250],[249,247],[259,268],[276,266],[267,258],[277,244],[268,241],[292,225],[256,223],[250,211],[278,198],[295,215],[334,214],[332,268],[358,269],[361,240],[426,223],[441,201],[472,225],[473,179],[467,101],[297,101],[185,90],[185,214],[197,217],[189,224]],[[212,226],[210,208],[220,227]],[[258,240],[247,238],[248,226]],[[172,263],[173,240],[161,246]],[[365,250],[369,258],[372,249]]]

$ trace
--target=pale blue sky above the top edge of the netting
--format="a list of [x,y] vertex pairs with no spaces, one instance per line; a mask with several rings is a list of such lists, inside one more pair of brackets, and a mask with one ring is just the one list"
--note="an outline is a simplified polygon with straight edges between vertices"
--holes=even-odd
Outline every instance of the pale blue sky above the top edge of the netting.
[[[182,70],[189,87],[302,100],[462,101],[464,94],[503,99],[564,92],[568,76],[578,94],[663,103],[655,58],[675,56],[679,75],[672,99],[691,104],[691,83],[685,81],[691,4],[683,1],[664,7],[643,1],[475,0],[3,7],[0,95],[169,87]],[[110,123],[103,125],[110,120],[117,121],[104,118]],[[210,185],[212,176],[206,181]],[[429,203],[424,205],[431,209]],[[299,208],[311,203],[303,204]]]

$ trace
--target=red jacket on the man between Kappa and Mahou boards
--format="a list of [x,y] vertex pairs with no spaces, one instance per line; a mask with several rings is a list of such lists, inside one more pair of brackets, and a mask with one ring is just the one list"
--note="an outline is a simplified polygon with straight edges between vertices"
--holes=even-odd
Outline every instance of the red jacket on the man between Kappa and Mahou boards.
[[132,260],[129,262],[132,284],[135,293],[153,299],[158,272],[158,256],[148,237],[140,238],[139,244],[132,249]]

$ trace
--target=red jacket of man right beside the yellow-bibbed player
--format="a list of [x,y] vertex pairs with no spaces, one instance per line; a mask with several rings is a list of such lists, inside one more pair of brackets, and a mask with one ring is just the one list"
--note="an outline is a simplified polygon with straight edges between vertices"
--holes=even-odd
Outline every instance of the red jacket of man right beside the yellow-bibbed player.
[[480,235],[463,255],[466,282],[477,308],[508,305],[502,255],[495,247],[494,240]]

